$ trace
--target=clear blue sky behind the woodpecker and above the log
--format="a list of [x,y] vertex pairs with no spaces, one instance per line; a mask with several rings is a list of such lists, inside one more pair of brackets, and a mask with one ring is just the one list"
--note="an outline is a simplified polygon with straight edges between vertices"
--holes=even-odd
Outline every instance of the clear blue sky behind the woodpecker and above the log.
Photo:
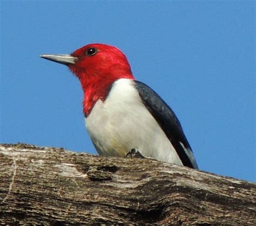
[[1,1],[0,143],[96,154],[83,93],[39,58],[119,47],[176,112],[203,171],[255,181],[254,1]]

